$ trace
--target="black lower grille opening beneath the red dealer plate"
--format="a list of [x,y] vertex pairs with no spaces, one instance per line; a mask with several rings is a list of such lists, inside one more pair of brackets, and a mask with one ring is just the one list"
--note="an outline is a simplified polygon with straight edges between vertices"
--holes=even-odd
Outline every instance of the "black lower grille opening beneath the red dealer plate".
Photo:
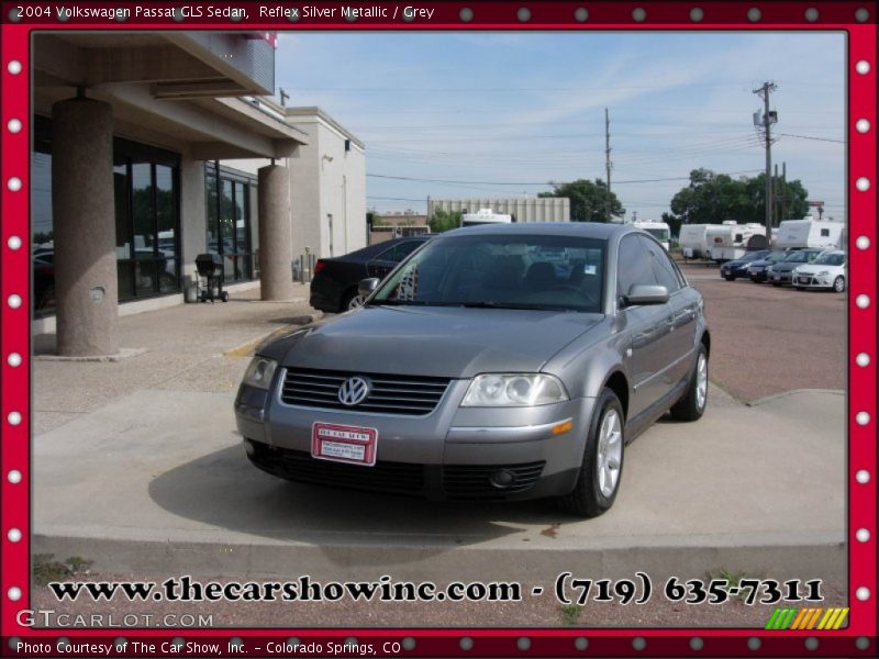
[[424,466],[378,461],[371,467],[318,460],[311,455],[254,443],[251,460],[257,467],[288,480],[397,494],[421,494]]

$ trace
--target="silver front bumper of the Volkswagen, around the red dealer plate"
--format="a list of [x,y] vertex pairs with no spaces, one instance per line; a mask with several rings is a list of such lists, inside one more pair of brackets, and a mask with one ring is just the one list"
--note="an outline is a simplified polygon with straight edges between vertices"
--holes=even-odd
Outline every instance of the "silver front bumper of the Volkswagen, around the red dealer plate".
[[[280,369],[279,369],[280,370]],[[242,386],[238,432],[254,465],[289,480],[422,496],[520,500],[569,493],[582,462],[594,399],[539,407],[459,407],[469,380],[453,380],[424,416],[285,404]],[[570,421],[569,431],[554,427]],[[314,423],[375,428],[371,467],[313,458]],[[502,483],[502,484],[501,484]]]

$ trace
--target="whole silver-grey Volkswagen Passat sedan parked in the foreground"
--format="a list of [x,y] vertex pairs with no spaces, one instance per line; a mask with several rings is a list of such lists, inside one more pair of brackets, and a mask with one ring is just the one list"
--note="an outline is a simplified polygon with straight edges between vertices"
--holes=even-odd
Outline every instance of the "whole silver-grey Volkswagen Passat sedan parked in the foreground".
[[427,243],[366,304],[260,347],[235,400],[269,473],[429,499],[616,498],[625,445],[699,418],[702,297],[648,234],[474,226]]

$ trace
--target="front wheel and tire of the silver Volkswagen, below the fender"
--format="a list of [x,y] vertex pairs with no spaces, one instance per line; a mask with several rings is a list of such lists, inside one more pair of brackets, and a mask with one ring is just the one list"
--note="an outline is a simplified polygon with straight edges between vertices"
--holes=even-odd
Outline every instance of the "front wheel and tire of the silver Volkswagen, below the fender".
[[564,511],[579,517],[597,517],[613,505],[623,474],[624,428],[620,399],[605,389],[596,401],[577,483],[569,494],[558,498]]

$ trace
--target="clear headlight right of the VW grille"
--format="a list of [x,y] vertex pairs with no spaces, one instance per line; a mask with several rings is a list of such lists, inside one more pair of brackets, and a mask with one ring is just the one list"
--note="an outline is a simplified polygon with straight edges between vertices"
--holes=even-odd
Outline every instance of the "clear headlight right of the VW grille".
[[528,407],[567,401],[568,392],[555,376],[487,373],[470,382],[461,407]]

